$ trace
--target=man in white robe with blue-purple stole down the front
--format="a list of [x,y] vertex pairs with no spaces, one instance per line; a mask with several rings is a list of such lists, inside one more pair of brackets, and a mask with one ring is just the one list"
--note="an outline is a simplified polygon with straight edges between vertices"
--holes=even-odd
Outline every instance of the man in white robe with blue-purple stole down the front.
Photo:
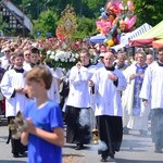
[[145,52],[137,52],[136,55],[137,62],[128,66],[123,73],[127,79],[127,88],[122,96],[123,125],[129,129],[139,130],[141,136],[147,136],[149,110],[145,112],[145,105],[139,93],[148,65]]

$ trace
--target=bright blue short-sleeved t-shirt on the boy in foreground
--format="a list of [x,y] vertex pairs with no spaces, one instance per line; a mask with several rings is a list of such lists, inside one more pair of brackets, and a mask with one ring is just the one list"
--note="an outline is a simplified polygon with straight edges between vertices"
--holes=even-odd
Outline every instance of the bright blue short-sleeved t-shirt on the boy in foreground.
[[[41,109],[30,102],[25,110],[25,117],[32,118],[35,126],[53,133],[57,127],[63,128],[62,112],[53,101],[48,101]],[[28,163],[61,163],[62,149],[35,135],[28,139]]]

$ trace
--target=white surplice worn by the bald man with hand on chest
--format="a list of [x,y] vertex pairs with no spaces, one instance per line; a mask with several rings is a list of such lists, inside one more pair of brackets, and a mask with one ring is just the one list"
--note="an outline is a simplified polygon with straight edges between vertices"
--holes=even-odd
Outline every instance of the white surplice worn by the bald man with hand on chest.
[[[109,74],[118,77],[117,87],[109,79]],[[121,91],[126,88],[126,79],[118,70],[106,71],[105,67],[99,68],[92,76],[95,84],[95,115],[115,115],[122,116]]]

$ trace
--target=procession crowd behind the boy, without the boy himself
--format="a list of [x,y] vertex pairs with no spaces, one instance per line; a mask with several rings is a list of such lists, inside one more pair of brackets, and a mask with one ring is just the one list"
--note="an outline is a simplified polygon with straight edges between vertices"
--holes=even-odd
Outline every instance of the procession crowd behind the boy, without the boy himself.
[[[0,108],[1,114],[5,114],[9,121],[16,116],[17,111],[23,112],[15,103],[17,110],[12,106],[9,110],[8,101],[11,97],[15,98],[16,92],[24,93],[23,90],[15,88],[16,84],[17,87],[24,86],[18,86],[21,82],[16,76],[11,88],[14,91],[11,91],[8,97],[9,92],[4,88],[7,80],[10,84],[8,78],[10,75],[4,74],[11,70],[17,71],[20,66],[25,72],[29,72],[35,66],[43,65],[52,74],[52,85],[48,90],[49,99],[60,104],[67,125],[66,142],[76,143],[76,150],[82,150],[84,145],[90,143],[91,126],[88,125],[90,116],[86,115],[93,114],[96,127],[100,131],[99,138],[105,143],[105,148],[98,151],[102,156],[102,162],[105,162],[109,156],[114,159],[115,152],[120,151],[123,134],[137,129],[141,136],[147,136],[149,115],[151,115],[155,152],[162,152],[163,130],[160,127],[163,115],[163,92],[160,91],[163,90],[162,49],[159,49],[156,60],[154,60],[151,48],[138,48],[133,55],[128,55],[125,49],[115,52],[103,45],[90,45],[83,40],[61,41],[57,38],[30,40],[20,37],[8,40],[1,38],[0,47],[0,80],[2,80]],[[62,67],[53,70],[46,62],[47,51],[60,48],[79,54],[78,62],[68,72],[64,72]],[[23,59],[16,61],[20,53],[22,55],[18,57]],[[91,55],[96,60],[93,63],[90,62]],[[158,85],[154,84],[155,78],[160,78]],[[22,77],[21,80],[23,80]],[[153,97],[154,86],[159,90],[158,99]],[[93,112],[90,109],[93,109]],[[152,112],[151,109],[153,109]],[[158,128],[155,129],[154,126]],[[13,150],[14,143],[16,142],[12,143]]]

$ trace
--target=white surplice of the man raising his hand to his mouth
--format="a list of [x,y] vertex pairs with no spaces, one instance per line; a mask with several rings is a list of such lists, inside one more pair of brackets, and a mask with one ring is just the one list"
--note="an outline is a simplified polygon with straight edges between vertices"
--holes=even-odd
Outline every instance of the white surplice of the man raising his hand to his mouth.
[[75,108],[90,108],[90,88],[88,80],[96,71],[96,66],[91,65],[88,68],[82,66],[73,66],[70,73],[70,93],[66,105]]

